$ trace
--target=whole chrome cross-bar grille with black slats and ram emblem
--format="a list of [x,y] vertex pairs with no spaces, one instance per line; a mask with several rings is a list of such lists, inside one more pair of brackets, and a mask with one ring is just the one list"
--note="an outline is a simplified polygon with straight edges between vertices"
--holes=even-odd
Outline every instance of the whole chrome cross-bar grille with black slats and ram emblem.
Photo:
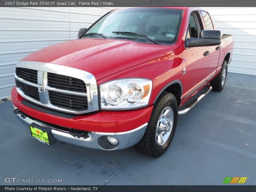
[[15,69],[15,81],[22,97],[41,106],[73,114],[99,109],[96,80],[86,71],[20,61]]

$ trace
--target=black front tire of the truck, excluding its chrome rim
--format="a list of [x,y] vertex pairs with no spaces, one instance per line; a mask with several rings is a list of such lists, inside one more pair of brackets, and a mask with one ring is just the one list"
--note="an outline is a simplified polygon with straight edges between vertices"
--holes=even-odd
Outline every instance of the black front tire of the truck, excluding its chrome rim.
[[[156,129],[157,129],[157,123],[158,119],[166,107],[171,107],[173,111],[173,123],[172,123],[172,131],[170,133],[169,138],[166,140],[166,142],[163,145],[157,144],[156,141]],[[150,117],[150,120],[148,122],[148,127],[144,133],[144,136],[140,140],[139,143],[135,145],[135,148],[140,153],[147,155],[149,157],[159,157],[164,154],[164,152],[169,148],[172,138],[174,136],[174,132],[177,125],[177,119],[178,119],[178,103],[175,98],[175,96],[172,93],[169,92],[163,92],[158,99],[156,100],[156,103],[154,104],[154,108]]]

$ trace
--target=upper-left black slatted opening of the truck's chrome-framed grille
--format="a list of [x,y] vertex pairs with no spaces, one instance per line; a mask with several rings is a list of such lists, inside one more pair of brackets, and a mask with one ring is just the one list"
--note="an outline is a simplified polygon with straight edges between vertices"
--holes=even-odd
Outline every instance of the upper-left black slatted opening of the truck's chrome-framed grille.
[[37,84],[37,70],[17,67],[16,75],[26,81]]

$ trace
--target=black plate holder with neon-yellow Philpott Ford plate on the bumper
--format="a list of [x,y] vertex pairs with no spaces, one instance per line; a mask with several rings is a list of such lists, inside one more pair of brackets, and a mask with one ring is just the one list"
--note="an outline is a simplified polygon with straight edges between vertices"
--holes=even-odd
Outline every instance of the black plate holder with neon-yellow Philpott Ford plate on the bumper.
[[29,125],[29,130],[32,138],[46,145],[52,145],[57,142],[52,135],[52,129],[50,127],[32,123]]

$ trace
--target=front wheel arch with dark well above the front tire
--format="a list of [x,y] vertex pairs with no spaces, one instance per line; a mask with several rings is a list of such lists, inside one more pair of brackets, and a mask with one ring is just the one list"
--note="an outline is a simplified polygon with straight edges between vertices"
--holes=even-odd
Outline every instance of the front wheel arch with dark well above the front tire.
[[170,92],[172,93],[178,102],[178,107],[181,104],[181,96],[182,96],[182,91],[183,91],[183,87],[182,87],[182,83],[180,82],[180,80],[174,80],[168,84],[166,84],[161,91],[157,94],[156,99],[154,100],[154,103],[156,102],[156,100],[158,99],[158,97],[161,95],[162,92]]

